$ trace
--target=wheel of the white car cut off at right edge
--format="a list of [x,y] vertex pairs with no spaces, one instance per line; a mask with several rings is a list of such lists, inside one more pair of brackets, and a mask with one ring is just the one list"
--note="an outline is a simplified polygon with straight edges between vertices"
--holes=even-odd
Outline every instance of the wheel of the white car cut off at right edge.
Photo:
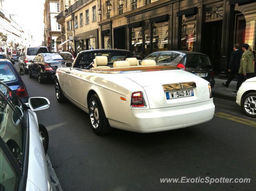
[[241,101],[241,107],[247,116],[256,118],[256,93],[245,95]]

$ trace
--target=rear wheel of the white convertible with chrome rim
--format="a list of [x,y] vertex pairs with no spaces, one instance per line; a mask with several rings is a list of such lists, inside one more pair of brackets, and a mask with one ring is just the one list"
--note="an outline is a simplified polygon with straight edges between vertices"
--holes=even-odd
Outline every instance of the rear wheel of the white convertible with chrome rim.
[[113,128],[110,127],[108,123],[108,119],[106,118],[100,98],[97,94],[93,94],[90,97],[88,107],[90,125],[94,133],[97,135],[105,135],[110,133]]

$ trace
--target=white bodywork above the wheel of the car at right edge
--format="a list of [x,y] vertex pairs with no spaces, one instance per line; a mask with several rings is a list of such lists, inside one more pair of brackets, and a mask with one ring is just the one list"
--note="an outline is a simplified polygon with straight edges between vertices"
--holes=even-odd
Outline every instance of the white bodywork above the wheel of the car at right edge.
[[250,78],[240,86],[236,94],[236,103],[241,106],[242,97],[244,97],[247,91],[254,90],[256,92],[256,77]]

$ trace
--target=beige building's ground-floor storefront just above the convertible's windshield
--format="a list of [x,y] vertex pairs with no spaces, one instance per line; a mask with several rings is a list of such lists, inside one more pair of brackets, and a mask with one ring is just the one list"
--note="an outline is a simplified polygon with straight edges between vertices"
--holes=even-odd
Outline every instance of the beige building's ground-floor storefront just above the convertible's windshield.
[[76,53],[79,53],[83,50],[98,49],[98,29],[77,34],[74,37],[74,40]]

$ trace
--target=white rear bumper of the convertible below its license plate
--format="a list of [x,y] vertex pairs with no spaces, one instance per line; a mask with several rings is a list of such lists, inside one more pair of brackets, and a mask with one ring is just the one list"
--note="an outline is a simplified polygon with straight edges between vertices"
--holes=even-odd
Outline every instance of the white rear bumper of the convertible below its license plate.
[[159,109],[132,109],[132,128],[140,133],[167,131],[204,123],[212,119],[213,99],[201,103]]

